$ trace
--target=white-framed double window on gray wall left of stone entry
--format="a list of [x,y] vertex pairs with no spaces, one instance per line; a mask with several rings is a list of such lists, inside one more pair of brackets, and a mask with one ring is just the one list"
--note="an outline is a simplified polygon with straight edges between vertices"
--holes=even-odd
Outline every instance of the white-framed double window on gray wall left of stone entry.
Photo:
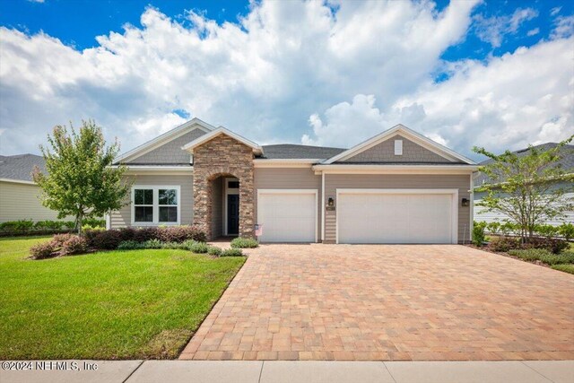
[[132,188],[132,224],[179,224],[179,187]]

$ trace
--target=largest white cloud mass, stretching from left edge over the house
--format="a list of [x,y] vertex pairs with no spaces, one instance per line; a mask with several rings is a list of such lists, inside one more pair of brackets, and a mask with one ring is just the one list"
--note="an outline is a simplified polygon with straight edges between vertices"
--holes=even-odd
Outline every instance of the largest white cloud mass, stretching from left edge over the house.
[[[392,102],[428,78],[465,36],[475,2],[254,3],[240,25],[153,8],[143,27],[83,51],[0,28],[2,152],[37,152],[51,126],[95,118],[127,150],[161,133],[173,110],[260,142],[296,141],[307,118],[355,94]],[[404,76],[404,74],[408,74]]]

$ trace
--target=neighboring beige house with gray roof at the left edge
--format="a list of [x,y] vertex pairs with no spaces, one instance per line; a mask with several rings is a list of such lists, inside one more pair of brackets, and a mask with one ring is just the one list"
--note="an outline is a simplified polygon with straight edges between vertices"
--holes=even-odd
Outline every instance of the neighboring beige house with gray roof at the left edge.
[[0,222],[57,220],[57,212],[39,200],[40,188],[31,176],[34,166],[46,171],[39,155],[0,155]]

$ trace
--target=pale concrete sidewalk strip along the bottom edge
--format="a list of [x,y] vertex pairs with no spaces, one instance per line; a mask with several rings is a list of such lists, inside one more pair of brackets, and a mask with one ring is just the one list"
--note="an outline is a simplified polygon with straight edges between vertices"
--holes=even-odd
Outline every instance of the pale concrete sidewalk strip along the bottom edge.
[[[2,383],[574,383],[574,361],[57,361],[0,370]],[[10,362],[9,362],[10,363]],[[94,370],[94,365],[97,369]],[[74,368],[75,366],[75,368]],[[83,366],[91,370],[83,370]],[[43,367],[46,367],[44,364]],[[70,370],[57,370],[69,368]]]

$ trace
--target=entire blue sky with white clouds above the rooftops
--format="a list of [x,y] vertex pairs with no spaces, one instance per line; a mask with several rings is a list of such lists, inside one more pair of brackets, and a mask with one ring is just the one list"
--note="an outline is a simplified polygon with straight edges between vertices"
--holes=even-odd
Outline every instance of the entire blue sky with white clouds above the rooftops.
[[[567,1],[0,1],[0,152],[95,118],[348,147],[403,123],[474,156],[574,133]],[[349,138],[352,137],[352,138]]]

